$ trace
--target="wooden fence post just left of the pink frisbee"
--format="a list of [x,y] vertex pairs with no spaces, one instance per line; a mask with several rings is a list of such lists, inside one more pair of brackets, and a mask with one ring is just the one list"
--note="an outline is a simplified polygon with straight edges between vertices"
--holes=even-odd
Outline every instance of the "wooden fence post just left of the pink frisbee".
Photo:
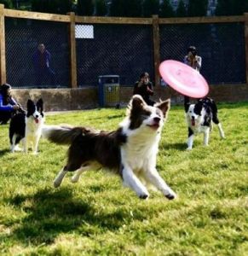
[[153,61],[154,61],[154,85],[160,85],[160,37],[159,37],[159,15],[153,15]]

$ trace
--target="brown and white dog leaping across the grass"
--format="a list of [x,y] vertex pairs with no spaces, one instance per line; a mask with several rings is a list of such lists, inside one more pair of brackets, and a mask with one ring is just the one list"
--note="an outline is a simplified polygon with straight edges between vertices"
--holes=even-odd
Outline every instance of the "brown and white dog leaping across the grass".
[[151,107],[136,95],[130,100],[127,116],[116,131],[45,125],[43,137],[70,145],[66,166],[55,177],[54,186],[61,185],[67,172],[77,171],[72,177],[72,183],[76,183],[82,172],[104,167],[120,174],[124,185],[141,199],[149,196],[147,183],[168,199],[174,199],[176,194],[156,170],[161,130],[169,109],[170,100]]

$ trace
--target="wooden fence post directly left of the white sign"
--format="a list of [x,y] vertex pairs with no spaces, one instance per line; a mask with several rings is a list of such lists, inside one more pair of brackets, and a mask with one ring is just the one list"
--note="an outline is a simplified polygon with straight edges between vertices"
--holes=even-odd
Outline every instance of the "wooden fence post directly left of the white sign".
[[71,67],[71,88],[77,88],[77,59],[76,59],[76,38],[75,38],[75,13],[71,12],[69,28],[69,45],[70,45],[70,67]]

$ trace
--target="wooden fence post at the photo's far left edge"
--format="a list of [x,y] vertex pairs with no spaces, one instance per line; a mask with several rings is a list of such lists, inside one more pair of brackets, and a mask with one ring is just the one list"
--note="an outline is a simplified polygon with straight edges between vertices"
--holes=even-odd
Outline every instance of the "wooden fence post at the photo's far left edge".
[[6,83],[4,5],[0,4],[0,84]]

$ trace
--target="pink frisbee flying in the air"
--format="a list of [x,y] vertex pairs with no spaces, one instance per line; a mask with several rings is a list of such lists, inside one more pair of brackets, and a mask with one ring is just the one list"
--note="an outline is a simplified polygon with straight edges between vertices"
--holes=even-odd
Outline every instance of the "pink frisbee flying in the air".
[[159,73],[171,88],[185,96],[202,98],[209,92],[205,78],[192,67],[180,61],[163,61]]

